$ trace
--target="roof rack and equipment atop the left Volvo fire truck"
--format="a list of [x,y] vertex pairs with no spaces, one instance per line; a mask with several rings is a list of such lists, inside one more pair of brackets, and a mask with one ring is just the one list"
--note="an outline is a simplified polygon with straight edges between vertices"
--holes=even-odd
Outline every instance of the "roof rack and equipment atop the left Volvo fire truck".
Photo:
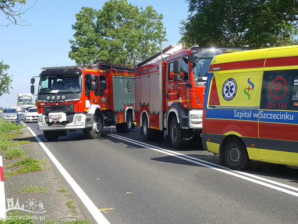
[[[109,63],[109,62],[97,62],[97,64],[90,64],[89,68],[94,68],[94,69],[110,69],[114,68],[117,70],[121,71],[131,71],[134,72],[135,67],[132,66],[127,66],[127,65],[120,65],[120,64],[114,64],[114,63]],[[63,69],[63,68],[87,68],[83,67],[83,65],[70,65],[70,66],[58,66],[58,67],[43,67],[41,70],[47,70],[47,69]]]

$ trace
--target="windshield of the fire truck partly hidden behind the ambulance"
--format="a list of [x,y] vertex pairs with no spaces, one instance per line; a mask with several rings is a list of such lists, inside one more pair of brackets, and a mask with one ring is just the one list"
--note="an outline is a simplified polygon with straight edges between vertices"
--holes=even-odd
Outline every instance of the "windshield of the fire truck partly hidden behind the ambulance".
[[195,63],[195,67],[193,68],[193,76],[195,78],[195,82],[204,81],[203,77],[207,77],[209,67],[211,61],[214,56],[222,54],[219,50],[202,50],[198,53],[198,62]]

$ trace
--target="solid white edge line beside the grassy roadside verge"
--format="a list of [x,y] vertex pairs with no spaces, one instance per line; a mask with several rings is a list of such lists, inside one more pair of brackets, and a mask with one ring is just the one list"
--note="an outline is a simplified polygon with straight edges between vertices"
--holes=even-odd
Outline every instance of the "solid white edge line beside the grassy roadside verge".
[[52,160],[52,162],[58,168],[58,170],[63,175],[63,177],[66,179],[66,181],[69,183],[69,185],[72,187],[72,189],[75,191],[77,196],[80,198],[80,200],[86,206],[86,208],[91,213],[91,215],[96,220],[96,222],[98,224],[110,224],[108,222],[108,220],[104,217],[104,215],[98,210],[98,208],[90,200],[90,198],[87,196],[87,194],[82,190],[82,188],[80,188],[80,186],[77,184],[77,182],[75,182],[75,180],[69,175],[69,173],[66,171],[66,169],[60,164],[60,162],[55,158],[55,156],[49,151],[49,149],[46,147],[46,145],[44,145],[44,143],[31,130],[30,127],[27,127],[27,128],[31,132],[31,134],[35,137],[35,139],[39,142],[39,144],[44,149],[44,151],[46,152],[48,157]]

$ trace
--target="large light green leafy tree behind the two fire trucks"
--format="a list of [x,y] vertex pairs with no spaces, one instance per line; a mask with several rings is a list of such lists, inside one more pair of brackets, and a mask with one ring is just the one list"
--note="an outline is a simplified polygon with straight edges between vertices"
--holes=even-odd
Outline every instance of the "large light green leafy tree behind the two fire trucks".
[[82,7],[76,14],[69,57],[77,64],[111,62],[133,66],[160,50],[166,31],[152,6],[110,0],[102,9]]

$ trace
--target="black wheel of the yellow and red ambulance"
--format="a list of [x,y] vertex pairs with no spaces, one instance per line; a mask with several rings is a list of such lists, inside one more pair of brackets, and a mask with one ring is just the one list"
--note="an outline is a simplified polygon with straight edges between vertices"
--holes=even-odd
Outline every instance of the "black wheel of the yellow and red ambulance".
[[224,146],[224,161],[232,170],[244,170],[252,160],[249,159],[242,142],[238,139],[230,139]]

